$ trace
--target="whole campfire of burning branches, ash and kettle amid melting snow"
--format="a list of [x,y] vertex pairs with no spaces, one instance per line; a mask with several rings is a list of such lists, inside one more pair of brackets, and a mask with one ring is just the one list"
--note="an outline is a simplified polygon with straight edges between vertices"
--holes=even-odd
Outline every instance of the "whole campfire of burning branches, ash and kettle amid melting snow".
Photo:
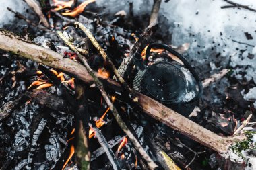
[[188,42],[172,45],[168,1],[141,15],[132,2],[25,1],[33,16],[8,12],[26,26],[0,30],[0,169],[252,167],[256,112],[241,91],[255,82],[231,85],[232,68],[201,71]]

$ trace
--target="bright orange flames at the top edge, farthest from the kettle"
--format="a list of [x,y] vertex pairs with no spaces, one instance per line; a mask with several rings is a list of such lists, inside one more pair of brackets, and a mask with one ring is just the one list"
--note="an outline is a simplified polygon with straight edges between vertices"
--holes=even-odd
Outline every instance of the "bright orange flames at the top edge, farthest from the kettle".
[[[87,0],[84,1],[83,3],[81,3],[78,7],[76,7],[75,9],[72,10],[66,10],[65,12],[61,13],[62,15],[65,16],[70,16],[70,17],[77,17],[78,15],[80,15],[83,11],[84,8],[89,5],[90,3],[95,2],[96,0]],[[54,9],[55,11],[59,11],[61,9],[65,9],[65,8],[70,8],[74,1],[58,1],[58,0],[53,0],[54,5],[56,6],[56,8]]]

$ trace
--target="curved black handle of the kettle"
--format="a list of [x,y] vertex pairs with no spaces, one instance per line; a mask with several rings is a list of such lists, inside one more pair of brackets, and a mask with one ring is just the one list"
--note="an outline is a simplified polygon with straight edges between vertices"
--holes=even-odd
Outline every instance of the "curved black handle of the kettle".
[[195,77],[195,81],[197,82],[197,86],[198,86],[197,95],[195,95],[195,97],[189,102],[193,102],[193,101],[196,101],[197,99],[199,99],[203,93],[203,86],[202,86],[202,83],[197,75],[197,72],[195,71],[195,69],[193,69],[193,67],[189,64],[189,62],[187,62],[187,60],[181,54],[179,54],[179,52],[170,48],[170,46],[167,46],[166,44],[161,44],[161,43],[152,43],[152,44],[148,45],[148,48],[146,50],[146,62],[148,62],[148,57],[150,56],[150,50],[153,47],[162,48],[164,50],[167,50],[168,52],[174,54],[174,56],[177,56],[184,63],[184,65],[187,67],[187,69],[189,69],[189,71],[192,73],[193,77]]

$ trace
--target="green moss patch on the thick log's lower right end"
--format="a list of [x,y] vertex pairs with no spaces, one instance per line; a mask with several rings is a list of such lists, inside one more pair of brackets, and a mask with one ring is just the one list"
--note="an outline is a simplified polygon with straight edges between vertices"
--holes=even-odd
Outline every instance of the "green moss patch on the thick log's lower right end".
[[243,157],[242,151],[246,149],[256,149],[255,143],[253,142],[253,134],[256,134],[256,132],[249,132],[245,131],[245,136],[247,136],[247,139],[242,140],[241,142],[236,142],[231,148],[236,155]]

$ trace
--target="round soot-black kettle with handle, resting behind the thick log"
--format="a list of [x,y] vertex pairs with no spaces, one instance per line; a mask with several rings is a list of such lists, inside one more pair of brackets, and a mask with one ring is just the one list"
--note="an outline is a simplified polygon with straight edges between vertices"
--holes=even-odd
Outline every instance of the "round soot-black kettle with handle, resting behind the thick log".
[[[151,48],[167,50],[184,65],[174,60],[148,62]],[[134,58],[138,71],[133,79],[133,89],[156,99],[183,116],[189,116],[202,94],[201,81],[189,62],[170,46],[160,43],[148,46],[145,61],[139,53]]]

